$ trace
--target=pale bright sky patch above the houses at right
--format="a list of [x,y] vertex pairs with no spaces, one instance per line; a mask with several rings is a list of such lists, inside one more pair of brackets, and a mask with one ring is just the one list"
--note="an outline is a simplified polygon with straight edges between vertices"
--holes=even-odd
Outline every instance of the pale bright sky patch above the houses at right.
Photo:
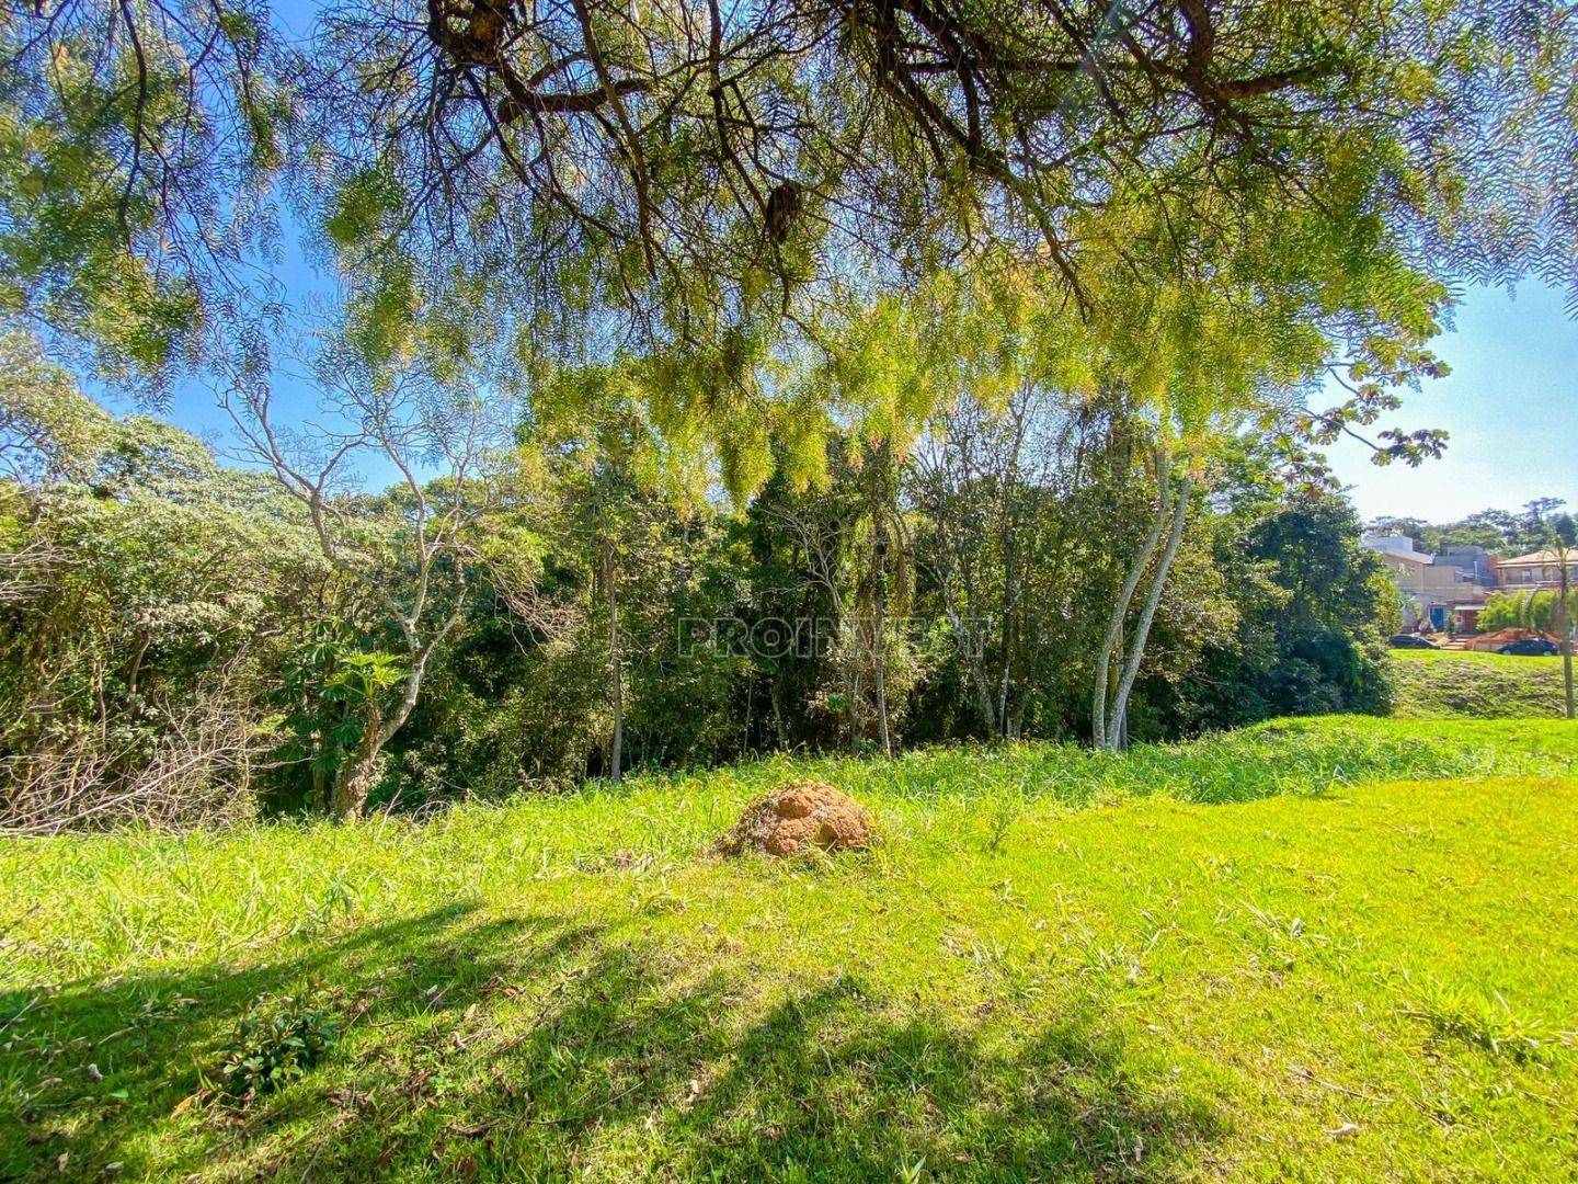
[[1441,523],[1545,496],[1578,507],[1578,322],[1562,294],[1469,289],[1434,349],[1452,373],[1408,393],[1392,418],[1445,428],[1447,453],[1419,469],[1379,469],[1359,444],[1333,447],[1332,467],[1359,513]]

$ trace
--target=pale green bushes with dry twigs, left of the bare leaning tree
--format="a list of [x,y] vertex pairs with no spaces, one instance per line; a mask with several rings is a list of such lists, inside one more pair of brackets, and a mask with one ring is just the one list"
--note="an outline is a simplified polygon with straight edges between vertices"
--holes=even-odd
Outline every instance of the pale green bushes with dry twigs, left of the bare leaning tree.
[[251,808],[260,709],[327,576],[303,515],[193,436],[106,415],[58,373],[8,382],[6,824],[63,802],[93,824]]

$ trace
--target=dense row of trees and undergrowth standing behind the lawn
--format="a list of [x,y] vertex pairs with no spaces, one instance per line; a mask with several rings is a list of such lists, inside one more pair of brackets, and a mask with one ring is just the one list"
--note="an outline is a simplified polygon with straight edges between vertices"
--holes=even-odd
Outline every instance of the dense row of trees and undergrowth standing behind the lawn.
[[6,349],[9,829],[1387,709],[1395,595],[1348,502],[1243,440],[1182,474],[1124,399],[963,401],[740,505],[638,422],[489,434],[363,392],[358,440],[402,475],[363,494],[333,450],[270,464],[257,431],[262,467],[229,467]]

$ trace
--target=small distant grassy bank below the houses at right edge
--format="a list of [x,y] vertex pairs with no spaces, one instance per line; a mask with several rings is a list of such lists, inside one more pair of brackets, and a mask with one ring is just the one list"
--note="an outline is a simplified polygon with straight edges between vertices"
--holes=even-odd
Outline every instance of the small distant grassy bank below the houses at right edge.
[[1562,660],[1474,650],[1392,650],[1403,718],[1518,718],[1562,714]]

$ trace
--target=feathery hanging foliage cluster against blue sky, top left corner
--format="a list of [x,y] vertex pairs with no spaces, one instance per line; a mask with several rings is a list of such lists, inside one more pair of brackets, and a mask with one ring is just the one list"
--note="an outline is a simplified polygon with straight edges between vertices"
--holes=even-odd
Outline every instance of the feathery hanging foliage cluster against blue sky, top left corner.
[[0,55],[0,316],[123,377],[227,352],[297,122],[267,6],[8,9]]

